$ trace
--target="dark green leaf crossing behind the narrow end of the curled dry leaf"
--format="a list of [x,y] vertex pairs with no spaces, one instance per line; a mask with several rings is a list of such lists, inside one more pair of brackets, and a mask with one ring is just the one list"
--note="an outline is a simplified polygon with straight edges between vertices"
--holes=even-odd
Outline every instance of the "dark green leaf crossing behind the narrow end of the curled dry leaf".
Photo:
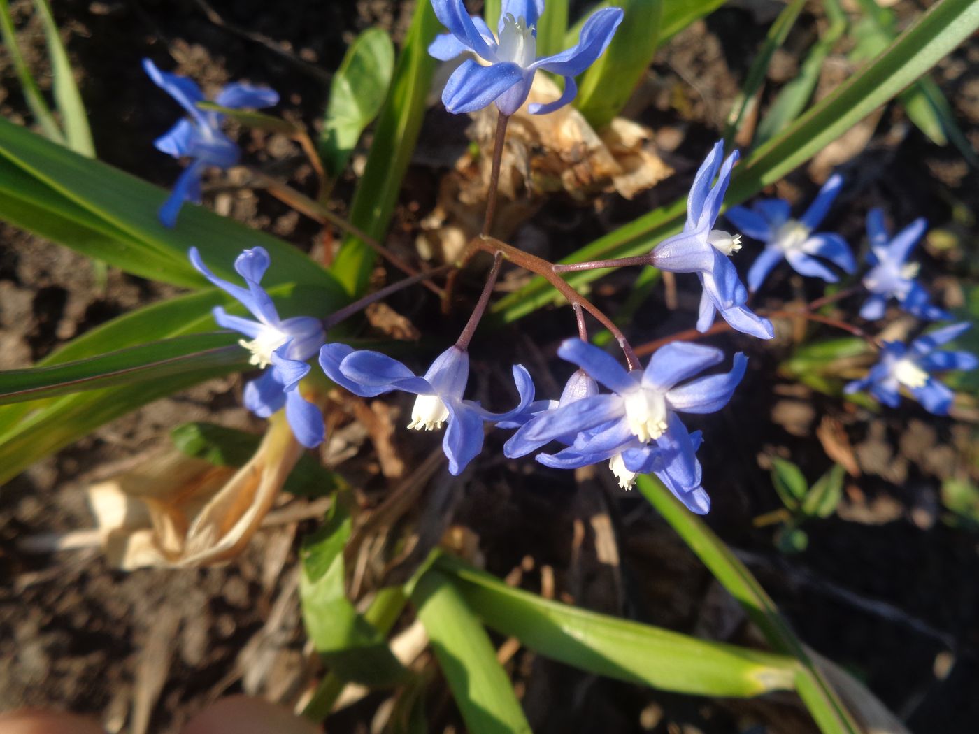
[[[261,438],[214,423],[185,423],[170,431],[170,440],[178,451],[216,467],[245,466],[255,455]],[[298,497],[324,497],[345,486],[339,474],[304,453],[282,488]]]

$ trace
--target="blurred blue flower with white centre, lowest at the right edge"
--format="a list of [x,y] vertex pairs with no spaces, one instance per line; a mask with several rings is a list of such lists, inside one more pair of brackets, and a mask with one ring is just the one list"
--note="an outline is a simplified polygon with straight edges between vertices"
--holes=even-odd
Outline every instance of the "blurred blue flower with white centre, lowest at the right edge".
[[871,395],[891,408],[901,401],[900,390],[907,388],[929,413],[948,415],[955,396],[952,390],[931,376],[941,370],[973,370],[979,359],[967,351],[951,351],[937,347],[956,339],[971,324],[961,322],[918,337],[910,346],[887,342],[880,359],[862,380],[848,384],[847,393],[868,390]]

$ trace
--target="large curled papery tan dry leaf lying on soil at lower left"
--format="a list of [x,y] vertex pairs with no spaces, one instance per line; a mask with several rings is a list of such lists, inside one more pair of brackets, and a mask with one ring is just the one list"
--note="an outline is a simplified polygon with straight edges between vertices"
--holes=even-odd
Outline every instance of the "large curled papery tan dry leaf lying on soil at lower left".
[[168,449],[92,484],[89,504],[110,563],[129,571],[229,561],[251,540],[302,454],[280,412],[237,471]]

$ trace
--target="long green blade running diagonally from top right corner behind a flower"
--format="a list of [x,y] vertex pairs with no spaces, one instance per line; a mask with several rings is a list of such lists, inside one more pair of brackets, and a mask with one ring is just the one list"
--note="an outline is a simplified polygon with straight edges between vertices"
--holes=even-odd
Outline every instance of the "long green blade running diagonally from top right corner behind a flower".
[[[740,204],[812,158],[863,117],[888,102],[934,67],[979,27],[975,0],[940,0],[911,25],[883,54],[820,100],[781,134],[753,151],[737,166],[727,190],[727,206]],[[562,262],[581,262],[649,252],[680,230],[685,200],[661,206],[569,255]],[[568,278],[582,288],[607,271],[591,270]],[[536,278],[501,298],[492,312],[515,321],[542,305],[562,302],[546,281]]]

